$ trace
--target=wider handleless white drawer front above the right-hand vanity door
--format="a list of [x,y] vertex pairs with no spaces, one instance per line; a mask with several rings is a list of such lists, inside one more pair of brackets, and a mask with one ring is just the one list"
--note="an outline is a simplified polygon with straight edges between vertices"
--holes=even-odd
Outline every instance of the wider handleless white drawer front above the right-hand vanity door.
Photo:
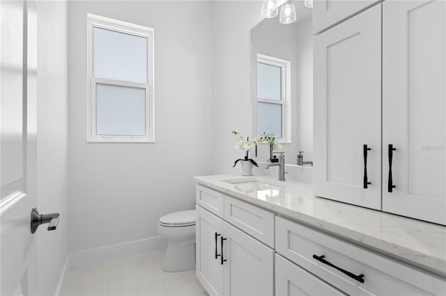
[[224,220],[274,248],[274,214],[224,196]]

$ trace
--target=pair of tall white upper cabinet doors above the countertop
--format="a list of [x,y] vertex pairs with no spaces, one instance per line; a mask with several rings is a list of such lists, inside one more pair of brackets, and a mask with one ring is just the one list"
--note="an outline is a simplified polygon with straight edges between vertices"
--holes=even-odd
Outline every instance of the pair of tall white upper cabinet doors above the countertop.
[[445,6],[387,0],[314,37],[315,195],[446,225]]

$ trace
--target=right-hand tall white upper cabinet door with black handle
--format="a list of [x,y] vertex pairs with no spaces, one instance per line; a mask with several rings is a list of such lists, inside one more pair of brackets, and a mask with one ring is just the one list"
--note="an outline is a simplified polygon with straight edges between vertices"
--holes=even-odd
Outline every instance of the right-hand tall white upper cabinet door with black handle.
[[383,211],[439,224],[446,224],[445,10],[445,1],[383,3]]

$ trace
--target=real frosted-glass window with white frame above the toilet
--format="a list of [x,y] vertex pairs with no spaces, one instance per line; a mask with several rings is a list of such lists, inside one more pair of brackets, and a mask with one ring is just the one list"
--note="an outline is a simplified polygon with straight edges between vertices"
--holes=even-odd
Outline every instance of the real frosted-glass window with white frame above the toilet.
[[154,142],[153,28],[87,15],[88,142]]

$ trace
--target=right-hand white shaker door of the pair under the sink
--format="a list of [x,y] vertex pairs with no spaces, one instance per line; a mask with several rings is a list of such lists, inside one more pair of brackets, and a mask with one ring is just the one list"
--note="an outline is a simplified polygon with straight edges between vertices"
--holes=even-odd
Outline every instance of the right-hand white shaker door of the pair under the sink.
[[274,295],[274,251],[226,222],[224,233],[224,295]]

